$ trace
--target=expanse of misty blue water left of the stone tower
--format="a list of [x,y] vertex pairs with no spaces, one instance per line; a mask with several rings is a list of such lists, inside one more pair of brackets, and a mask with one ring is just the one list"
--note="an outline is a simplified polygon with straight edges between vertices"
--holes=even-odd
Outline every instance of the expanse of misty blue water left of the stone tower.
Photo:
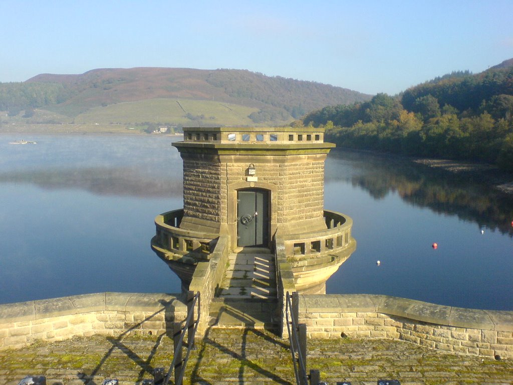
[[0,136],[0,303],[95,292],[178,293],[151,251],[182,207],[182,162],[160,136]]

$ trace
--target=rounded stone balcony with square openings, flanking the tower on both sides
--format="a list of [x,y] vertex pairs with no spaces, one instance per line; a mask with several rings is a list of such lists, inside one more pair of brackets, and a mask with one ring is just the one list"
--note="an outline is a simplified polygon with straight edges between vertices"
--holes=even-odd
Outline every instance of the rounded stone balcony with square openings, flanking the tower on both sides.
[[[184,210],[177,209],[157,216],[151,247],[186,287],[195,265],[208,261],[219,234],[180,228],[183,215]],[[324,293],[326,280],[356,249],[356,241],[351,236],[351,218],[324,210],[324,221],[326,229],[281,237],[296,288],[305,294]]]

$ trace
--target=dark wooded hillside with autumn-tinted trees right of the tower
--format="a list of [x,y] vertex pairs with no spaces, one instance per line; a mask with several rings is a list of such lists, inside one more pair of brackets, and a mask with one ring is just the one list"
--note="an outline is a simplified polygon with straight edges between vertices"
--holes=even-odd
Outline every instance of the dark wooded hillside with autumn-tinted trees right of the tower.
[[391,97],[329,106],[304,125],[352,148],[498,164],[513,171],[513,66],[453,72]]

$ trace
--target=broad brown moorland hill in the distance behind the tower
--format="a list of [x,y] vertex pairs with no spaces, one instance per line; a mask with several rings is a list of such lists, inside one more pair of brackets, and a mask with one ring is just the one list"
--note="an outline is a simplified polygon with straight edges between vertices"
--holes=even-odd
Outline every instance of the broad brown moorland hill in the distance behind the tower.
[[0,111],[32,123],[278,125],[325,105],[370,98],[234,69],[105,68],[0,83]]

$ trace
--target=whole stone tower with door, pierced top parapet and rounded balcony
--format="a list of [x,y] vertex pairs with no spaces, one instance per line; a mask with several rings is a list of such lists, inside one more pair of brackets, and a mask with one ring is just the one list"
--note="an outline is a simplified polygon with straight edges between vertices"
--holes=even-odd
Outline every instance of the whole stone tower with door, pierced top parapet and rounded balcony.
[[230,252],[273,251],[284,239],[299,290],[326,279],[356,247],[351,219],[324,210],[324,161],[332,143],[312,127],[190,127],[173,143],[183,159],[184,207],[157,216],[154,251],[186,288],[220,235]]

